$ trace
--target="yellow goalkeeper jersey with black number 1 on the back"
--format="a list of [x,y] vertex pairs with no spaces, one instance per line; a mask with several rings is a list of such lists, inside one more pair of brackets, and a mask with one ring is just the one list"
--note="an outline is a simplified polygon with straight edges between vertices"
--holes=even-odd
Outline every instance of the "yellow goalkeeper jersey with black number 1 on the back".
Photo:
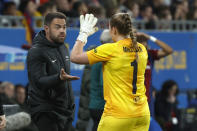
[[126,38],[87,52],[90,64],[103,62],[104,116],[130,118],[150,115],[144,86],[148,54],[146,48],[138,43],[136,61],[136,50],[131,48],[131,42]]

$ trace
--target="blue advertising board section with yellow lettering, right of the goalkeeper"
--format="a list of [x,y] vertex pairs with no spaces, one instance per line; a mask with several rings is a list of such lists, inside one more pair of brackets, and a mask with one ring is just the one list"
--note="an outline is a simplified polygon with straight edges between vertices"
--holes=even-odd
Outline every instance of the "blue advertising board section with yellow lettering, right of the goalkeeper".
[[[181,90],[197,88],[197,33],[195,32],[150,32],[149,34],[169,44],[172,55],[155,62],[153,86],[160,89],[167,79],[175,80]],[[150,42],[151,48],[158,48]]]

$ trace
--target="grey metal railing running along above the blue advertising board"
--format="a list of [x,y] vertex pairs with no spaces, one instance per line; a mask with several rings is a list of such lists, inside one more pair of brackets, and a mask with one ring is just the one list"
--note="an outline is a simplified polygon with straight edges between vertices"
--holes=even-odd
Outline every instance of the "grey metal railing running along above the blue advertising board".
[[[23,28],[22,23],[24,17],[22,16],[3,16],[0,15],[0,28]],[[36,21],[43,21],[43,17],[34,18],[34,28],[40,28],[35,23]],[[67,27],[79,28],[78,18],[68,18]],[[100,29],[106,29],[109,26],[109,19],[99,19],[97,26]],[[159,30],[159,31],[197,31],[197,21],[189,20],[173,20],[173,21],[144,21],[134,20],[134,27],[138,30]]]

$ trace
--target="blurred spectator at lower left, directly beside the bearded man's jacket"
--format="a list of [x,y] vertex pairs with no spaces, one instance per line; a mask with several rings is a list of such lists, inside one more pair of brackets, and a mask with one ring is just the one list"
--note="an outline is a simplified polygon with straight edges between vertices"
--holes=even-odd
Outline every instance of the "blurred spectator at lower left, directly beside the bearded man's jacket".
[[16,102],[23,106],[24,103],[25,103],[25,98],[26,98],[26,93],[25,93],[25,87],[21,84],[18,84],[15,86],[15,99],[16,99]]

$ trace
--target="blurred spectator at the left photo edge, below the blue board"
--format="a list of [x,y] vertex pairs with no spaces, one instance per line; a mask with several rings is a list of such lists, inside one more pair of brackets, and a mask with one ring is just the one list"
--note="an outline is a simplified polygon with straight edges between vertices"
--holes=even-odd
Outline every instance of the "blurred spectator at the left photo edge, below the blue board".
[[0,85],[0,99],[3,104],[15,104],[14,85],[10,82],[2,82]]

